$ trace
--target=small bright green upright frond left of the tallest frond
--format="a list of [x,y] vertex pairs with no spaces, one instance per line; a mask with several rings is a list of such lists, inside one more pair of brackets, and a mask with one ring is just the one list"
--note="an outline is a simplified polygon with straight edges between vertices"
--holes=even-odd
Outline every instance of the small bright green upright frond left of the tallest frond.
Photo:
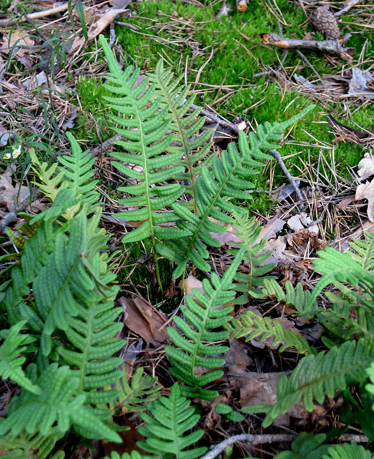
[[99,193],[94,191],[98,180],[92,180],[95,158],[91,159],[89,151],[82,152],[82,148],[70,132],[66,133],[66,137],[70,142],[71,156],[58,157],[59,163],[63,166],[63,168],[59,167],[59,171],[63,171],[64,179],[76,196],[82,195],[83,202],[93,204],[99,196]]

